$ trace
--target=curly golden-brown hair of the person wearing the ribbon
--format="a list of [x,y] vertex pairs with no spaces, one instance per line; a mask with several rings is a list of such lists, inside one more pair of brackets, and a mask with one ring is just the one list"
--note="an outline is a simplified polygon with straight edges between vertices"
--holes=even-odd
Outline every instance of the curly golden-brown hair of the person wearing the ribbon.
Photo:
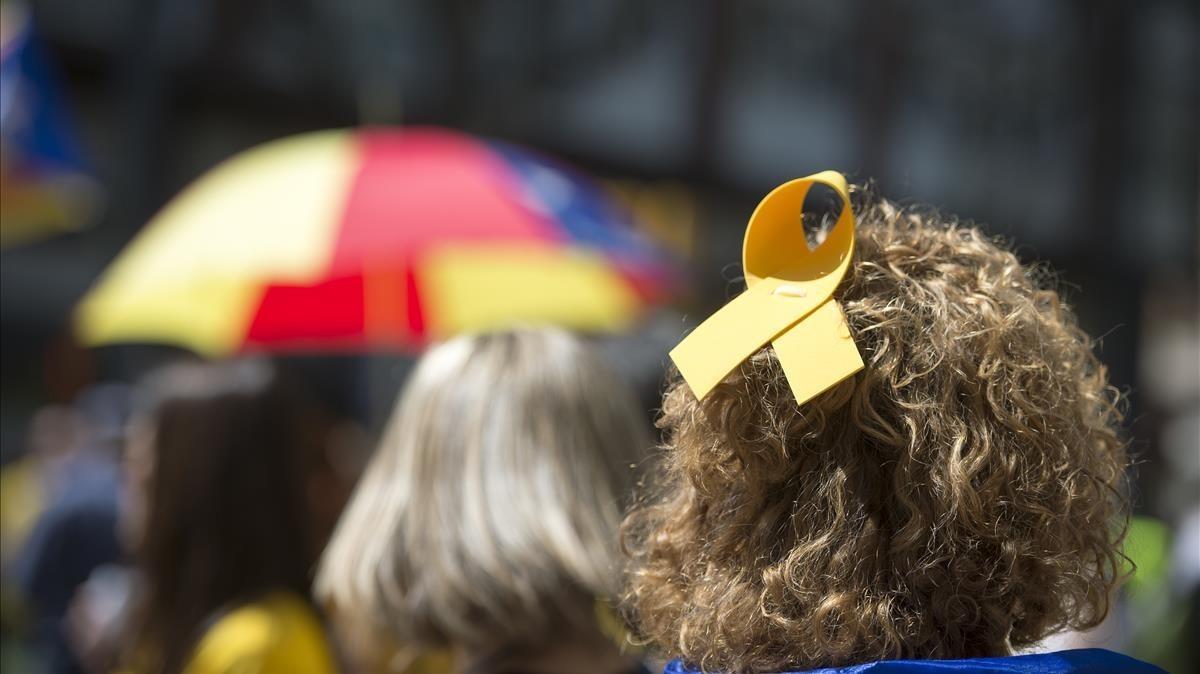
[[865,369],[803,407],[769,347],[703,402],[671,375],[625,600],[704,670],[1008,654],[1099,624],[1128,561],[1121,398],[1049,275],[854,201]]

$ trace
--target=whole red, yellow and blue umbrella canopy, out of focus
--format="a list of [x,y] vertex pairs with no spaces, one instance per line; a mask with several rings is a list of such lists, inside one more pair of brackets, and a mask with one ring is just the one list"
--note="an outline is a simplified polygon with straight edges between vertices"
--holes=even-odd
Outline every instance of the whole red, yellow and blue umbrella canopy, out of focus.
[[510,323],[614,330],[672,269],[571,169],[444,130],[317,132],[170,201],[77,312],[90,345],[418,348]]

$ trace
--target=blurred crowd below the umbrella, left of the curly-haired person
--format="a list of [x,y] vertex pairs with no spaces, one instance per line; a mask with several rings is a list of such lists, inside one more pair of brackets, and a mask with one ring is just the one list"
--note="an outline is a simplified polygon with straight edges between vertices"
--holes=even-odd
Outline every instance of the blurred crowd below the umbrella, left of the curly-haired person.
[[187,360],[38,411],[2,476],[5,670],[644,670],[613,543],[650,425],[601,356],[436,348],[361,480],[356,422],[307,386]]

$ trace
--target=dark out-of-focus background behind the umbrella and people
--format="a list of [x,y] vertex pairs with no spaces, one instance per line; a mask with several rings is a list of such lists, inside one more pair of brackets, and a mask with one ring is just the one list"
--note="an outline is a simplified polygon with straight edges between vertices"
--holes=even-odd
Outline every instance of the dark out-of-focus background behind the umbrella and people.
[[[1195,625],[1200,583],[1195,2],[0,7],[6,467],[31,451],[37,410],[78,408],[97,385],[130,383],[174,354],[84,347],[74,307],[168,199],[264,142],[438,126],[596,176],[678,270],[652,308],[600,338],[648,415],[667,349],[738,288],[754,205],[832,168],[977,221],[1057,271],[1130,393],[1147,561],[1109,643],[1171,670],[1195,662],[1170,637]],[[404,349],[288,357],[367,434],[409,361]]]

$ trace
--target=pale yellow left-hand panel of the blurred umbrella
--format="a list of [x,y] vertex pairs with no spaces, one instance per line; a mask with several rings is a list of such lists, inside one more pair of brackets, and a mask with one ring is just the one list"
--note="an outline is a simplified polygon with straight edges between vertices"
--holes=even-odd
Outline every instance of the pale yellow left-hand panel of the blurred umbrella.
[[84,297],[82,341],[236,349],[266,283],[313,283],[328,270],[356,167],[344,131],[268,143],[217,167],[169,203]]

